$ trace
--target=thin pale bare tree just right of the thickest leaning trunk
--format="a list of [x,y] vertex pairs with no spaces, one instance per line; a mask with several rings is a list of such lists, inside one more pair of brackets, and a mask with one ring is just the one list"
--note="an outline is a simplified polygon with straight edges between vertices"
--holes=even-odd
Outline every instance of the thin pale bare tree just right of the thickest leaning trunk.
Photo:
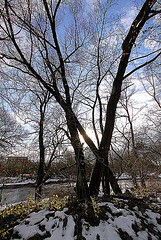
[[[122,156],[122,160],[123,158],[125,158],[125,161],[127,162],[127,166],[124,166],[124,168],[126,169],[125,171],[128,171],[128,173],[132,177],[134,186],[138,188],[139,186],[136,180],[137,174],[140,175],[142,187],[146,186],[144,181],[143,160],[142,157],[140,157],[138,149],[139,131],[136,130],[136,128],[140,129],[140,126],[137,126],[137,118],[139,117],[139,114],[145,108],[145,106],[142,106],[140,108],[134,108],[134,106],[137,106],[137,104],[135,104],[134,100],[132,100],[131,98],[135,96],[135,94],[135,88],[132,90],[128,90],[128,88],[126,88],[124,90],[124,93],[122,94],[122,97],[120,99],[122,111],[119,116],[119,118],[124,118],[124,128],[121,128],[120,130],[120,126],[118,125],[116,126],[116,129],[120,133],[121,138],[124,138],[125,141],[124,146],[126,146],[126,149],[124,151],[124,156]],[[142,128],[145,128],[144,124],[142,124]],[[119,144],[119,141],[117,142],[117,144]]]

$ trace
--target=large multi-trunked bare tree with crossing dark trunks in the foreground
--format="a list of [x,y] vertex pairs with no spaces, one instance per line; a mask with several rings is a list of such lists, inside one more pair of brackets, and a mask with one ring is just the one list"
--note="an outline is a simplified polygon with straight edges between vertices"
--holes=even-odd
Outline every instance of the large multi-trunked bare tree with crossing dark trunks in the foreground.
[[[110,1],[107,1],[106,4],[109,6]],[[98,194],[102,177],[104,179],[105,193],[110,192],[109,183],[115,193],[121,192],[117,181],[108,166],[108,153],[114,129],[116,108],[121,95],[123,81],[137,70],[156,60],[161,54],[159,50],[153,51],[148,55],[150,58],[147,61],[142,62],[137,67],[127,72],[128,65],[136,60],[136,58],[130,57],[132,57],[131,53],[133,46],[137,44],[136,39],[138,38],[138,35],[141,34],[145,23],[160,13],[160,9],[159,5],[157,5],[157,1],[155,0],[146,0],[144,2],[134,19],[129,32],[123,40],[122,49],[120,48],[120,56],[112,61],[109,67],[106,67],[106,71],[104,71],[102,76],[100,75],[101,56],[99,51],[99,39],[102,41],[103,35],[96,36],[95,38],[98,40],[96,41],[97,55],[94,56],[94,58],[97,59],[96,66],[98,73],[98,77],[96,79],[95,103],[98,101],[100,113],[99,125],[102,134],[100,140],[97,138],[97,147],[92,139],[87,135],[85,128],[79,119],[79,115],[74,108],[73,99],[76,96],[78,89],[80,92],[82,91],[80,90],[80,85],[83,80],[79,75],[77,78],[73,78],[75,80],[73,81],[73,79],[70,78],[69,69],[72,65],[72,67],[75,67],[76,69],[75,73],[77,73],[77,67],[81,64],[82,66],[85,66],[87,63],[85,61],[85,64],[83,65],[82,61],[87,56],[85,52],[87,53],[88,48],[91,48],[92,46],[92,38],[89,37],[89,30],[91,30],[91,26],[93,26],[90,25],[92,22],[91,18],[88,18],[88,14],[84,14],[86,18],[83,19],[82,5],[79,4],[79,9],[76,8],[76,6],[77,2],[72,2],[75,19],[76,17],[78,18],[78,16],[79,19],[81,19],[79,22],[81,28],[78,29],[78,24],[76,24],[75,21],[73,34],[74,40],[72,41],[70,38],[70,41],[68,41],[70,44],[62,44],[60,38],[63,35],[63,32],[59,29],[59,24],[61,25],[61,17],[63,14],[61,9],[65,12],[68,5],[63,4],[61,0],[57,2],[51,1],[50,3],[43,0],[39,2],[39,6],[37,6],[34,1],[22,0],[19,1],[19,4],[14,4],[14,1],[2,1],[1,19],[3,24],[1,24],[2,34],[0,40],[3,44],[3,49],[1,50],[0,56],[1,61],[5,64],[5,66],[16,68],[18,71],[32,76],[37,82],[41,82],[44,88],[46,88],[55,97],[56,101],[62,107],[65,113],[70,140],[74,148],[77,161],[77,194],[80,199],[84,198],[90,201],[90,195]],[[96,7],[100,7],[101,9],[101,6],[101,2],[98,1]],[[90,24],[84,24],[85,20],[86,23],[89,20]],[[93,27],[93,29],[95,28]],[[95,34],[95,31],[93,33]],[[94,37],[94,34],[92,37]],[[21,42],[22,38],[24,39],[23,45]],[[65,38],[62,39],[64,41],[66,40]],[[90,44],[88,44],[89,42]],[[83,54],[85,55],[83,56]],[[147,57],[147,55],[141,56],[140,59],[144,60],[145,57]],[[39,61],[40,58],[42,61]],[[38,62],[40,64],[38,64]],[[78,65],[78,62],[80,65]],[[117,70],[112,73],[111,67],[114,64],[117,65]],[[91,71],[91,66],[86,68],[84,71]],[[103,121],[102,103],[99,89],[101,87],[102,80],[107,79],[108,72],[110,72],[113,80],[111,94],[109,96],[109,100],[106,102],[105,120]],[[86,74],[86,76],[88,77],[88,74]],[[92,79],[84,79],[84,82],[87,84],[85,86],[91,86],[91,84],[89,85],[89,80],[91,81]],[[86,102],[88,105],[87,100],[90,101],[88,96],[84,98],[84,103]],[[95,105],[93,105],[93,111],[94,109]],[[94,125],[94,118],[92,121]],[[79,134],[83,136],[85,142],[97,159],[89,188],[86,181],[83,146],[80,142]]]

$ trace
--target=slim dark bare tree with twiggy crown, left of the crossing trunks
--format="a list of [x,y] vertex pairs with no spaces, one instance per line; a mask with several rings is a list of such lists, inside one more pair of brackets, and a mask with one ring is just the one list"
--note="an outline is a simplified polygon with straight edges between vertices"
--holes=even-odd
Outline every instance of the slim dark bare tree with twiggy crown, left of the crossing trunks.
[[[35,199],[42,197],[42,186],[50,178],[50,167],[58,158],[57,149],[64,140],[62,130],[62,115],[56,103],[52,101],[52,95],[43,86],[28,86],[23,82],[28,93],[28,101],[21,103],[23,120],[30,128],[32,151],[38,152],[38,172],[36,180]],[[35,153],[36,156],[36,153]]]

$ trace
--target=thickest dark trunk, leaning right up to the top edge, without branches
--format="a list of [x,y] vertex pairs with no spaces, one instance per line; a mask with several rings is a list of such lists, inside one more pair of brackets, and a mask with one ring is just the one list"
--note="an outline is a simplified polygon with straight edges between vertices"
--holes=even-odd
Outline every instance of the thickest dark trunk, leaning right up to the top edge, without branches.
[[[122,56],[120,59],[116,77],[113,82],[111,96],[110,96],[110,99],[109,99],[109,102],[107,105],[105,127],[104,127],[104,131],[103,131],[101,143],[99,146],[99,151],[101,153],[102,161],[106,166],[108,166],[108,152],[109,152],[112,133],[113,133],[113,129],[114,129],[116,108],[117,108],[117,104],[118,104],[118,101],[119,101],[120,95],[121,95],[122,82],[123,82],[124,78],[127,77],[127,75],[125,76],[125,71],[128,66],[130,53],[131,53],[133,45],[135,44],[138,34],[140,33],[140,31],[143,28],[146,21],[149,19],[149,14],[151,13],[151,8],[153,7],[155,2],[156,2],[155,0],[154,1],[150,1],[150,0],[145,1],[140,12],[138,13],[135,20],[133,21],[131,28],[122,44],[123,53],[122,53]],[[98,163],[98,160],[97,160],[95,167],[94,167],[94,171],[92,173],[92,178],[91,178],[91,183],[90,183],[91,194],[94,194],[94,192],[97,193],[99,190],[98,186],[99,186],[101,178],[102,178],[102,172],[103,172],[102,168],[103,168],[103,164]],[[112,188],[114,188],[113,189],[114,192],[120,191],[119,186],[117,186],[117,183],[115,181],[115,178],[114,178],[112,172],[107,171],[105,176],[106,176],[105,178],[107,179],[106,183],[108,181],[111,183]],[[106,188],[107,188],[107,186],[106,186]]]

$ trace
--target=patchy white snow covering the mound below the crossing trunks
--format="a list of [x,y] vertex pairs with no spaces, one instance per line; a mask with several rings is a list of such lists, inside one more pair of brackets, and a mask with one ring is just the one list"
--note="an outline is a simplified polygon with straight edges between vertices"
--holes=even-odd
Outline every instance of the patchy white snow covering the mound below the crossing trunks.
[[[123,199],[98,203],[98,206],[100,212],[104,212],[104,219],[95,227],[82,219],[82,240],[161,239],[161,215],[158,212],[150,208],[143,210],[139,204],[130,207]],[[33,212],[14,227],[11,239],[75,240],[78,239],[75,234],[77,217],[69,214],[67,208]]]

